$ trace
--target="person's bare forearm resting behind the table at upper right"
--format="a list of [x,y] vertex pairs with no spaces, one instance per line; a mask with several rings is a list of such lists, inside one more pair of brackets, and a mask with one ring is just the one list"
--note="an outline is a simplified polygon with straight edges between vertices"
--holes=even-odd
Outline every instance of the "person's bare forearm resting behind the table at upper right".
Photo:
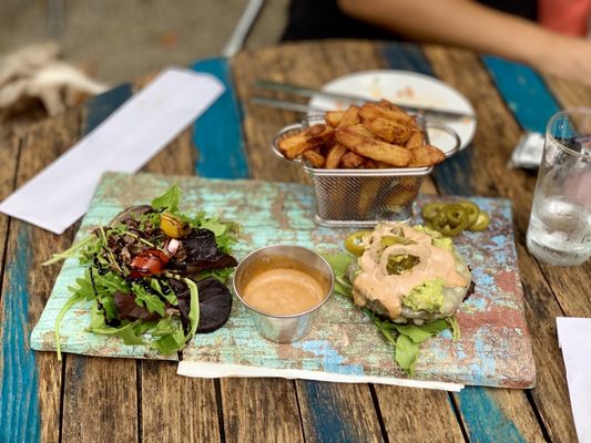
[[512,59],[591,85],[591,42],[469,0],[337,0],[356,19],[416,41]]

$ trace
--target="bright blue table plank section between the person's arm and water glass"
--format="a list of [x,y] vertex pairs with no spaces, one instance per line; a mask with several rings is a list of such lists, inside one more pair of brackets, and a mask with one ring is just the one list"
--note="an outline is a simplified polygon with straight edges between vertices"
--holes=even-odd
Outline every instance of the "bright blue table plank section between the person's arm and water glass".
[[543,133],[560,105],[542,78],[529,66],[498,56],[486,55],[482,61],[521,127]]

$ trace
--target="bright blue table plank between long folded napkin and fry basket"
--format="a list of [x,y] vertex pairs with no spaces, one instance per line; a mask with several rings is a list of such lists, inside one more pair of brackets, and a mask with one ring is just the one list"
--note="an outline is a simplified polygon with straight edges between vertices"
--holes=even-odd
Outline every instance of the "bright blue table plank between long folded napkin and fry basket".
[[226,86],[224,94],[195,122],[194,142],[200,153],[196,173],[210,178],[247,178],[242,112],[227,59],[203,60],[192,69],[215,75]]

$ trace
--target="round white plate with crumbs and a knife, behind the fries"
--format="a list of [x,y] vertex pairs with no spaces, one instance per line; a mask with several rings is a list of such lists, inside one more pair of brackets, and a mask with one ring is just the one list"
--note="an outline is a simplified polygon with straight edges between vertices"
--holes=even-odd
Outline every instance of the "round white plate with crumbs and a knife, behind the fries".
[[[456,89],[432,76],[409,71],[363,71],[332,80],[322,91],[363,95],[371,100],[386,99],[399,104],[420,104],[473,115],[473,119],[446,122],[447,126],[458,133],[461,140],[460,150],[472,141],[476,133],[476,112],[470,102]],[[308,106],[329,111],[346,109],[348,103],[314,96]],[[454,147],[454,140],[442,131],[429,130],[429,138],[432,145],[444,152]]]

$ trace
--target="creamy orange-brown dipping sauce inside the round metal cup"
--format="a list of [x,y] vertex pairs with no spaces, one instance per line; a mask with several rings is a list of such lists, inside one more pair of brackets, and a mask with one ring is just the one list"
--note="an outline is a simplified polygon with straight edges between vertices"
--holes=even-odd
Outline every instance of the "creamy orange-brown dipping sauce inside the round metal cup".
[[316,269],[287,257],[265,257],[245,271],[241,293],[272,316],[306,312],[327,297],[328,281]]

